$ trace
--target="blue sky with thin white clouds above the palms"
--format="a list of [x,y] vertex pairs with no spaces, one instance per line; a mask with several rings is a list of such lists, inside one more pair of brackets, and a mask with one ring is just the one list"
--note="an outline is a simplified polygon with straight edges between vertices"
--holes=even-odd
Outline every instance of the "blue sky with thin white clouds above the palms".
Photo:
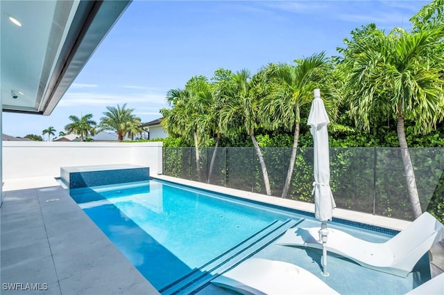
[[138,1],[130,4],[51,116],[3,113],[3,133],[64,131],[70,115],[127,103],[148,122],[160,118],[169,89],[221,67],[255,73],[269,62],[293,60],[336,47],[350,31],[375,23],[410,28],[429,1]]

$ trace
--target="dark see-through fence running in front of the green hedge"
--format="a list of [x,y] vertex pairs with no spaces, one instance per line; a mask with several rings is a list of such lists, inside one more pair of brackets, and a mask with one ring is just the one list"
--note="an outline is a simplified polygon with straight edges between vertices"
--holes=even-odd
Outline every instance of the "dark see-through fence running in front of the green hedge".
[[[291,148],[261,149],[271,193],[281,197]],[[444,148],[409,149],[422,211],[444,202]],[[213,162],[213,164],[212,164]],[[287,198],[314,202],[313,149],[298,148]],[[254,147],[164,147],[163,174],[265,194]],[[413,220],[400,148],[330,148],[330,186],[338,208]],[[432,203],[431,203],[432,202]]]

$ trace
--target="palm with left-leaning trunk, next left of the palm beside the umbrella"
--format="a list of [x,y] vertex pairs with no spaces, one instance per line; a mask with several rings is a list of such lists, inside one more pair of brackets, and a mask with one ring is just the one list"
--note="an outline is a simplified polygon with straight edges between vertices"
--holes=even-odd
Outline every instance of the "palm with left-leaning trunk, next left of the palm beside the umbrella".
[[221,128],[225,134],[233,134],[239,132],[239,126],[241,126],[250,136],[259,158],[266,194],[271,195],[264,157],[255,137],[259,109],[257,96],[254,95],[254,87],[255,85],[250,80],[250,71],[246,69],[232,75],[232,80],[223,85],[221,90],[221,99],[223,100]]

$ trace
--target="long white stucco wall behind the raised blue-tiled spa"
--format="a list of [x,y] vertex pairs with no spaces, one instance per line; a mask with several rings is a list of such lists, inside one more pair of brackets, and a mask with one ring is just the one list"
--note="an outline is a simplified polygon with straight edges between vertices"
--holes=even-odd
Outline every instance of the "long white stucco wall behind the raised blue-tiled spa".
[[162,172],[162,143],[3,141],[3,179],[60,177],[60,167],[133,164]]

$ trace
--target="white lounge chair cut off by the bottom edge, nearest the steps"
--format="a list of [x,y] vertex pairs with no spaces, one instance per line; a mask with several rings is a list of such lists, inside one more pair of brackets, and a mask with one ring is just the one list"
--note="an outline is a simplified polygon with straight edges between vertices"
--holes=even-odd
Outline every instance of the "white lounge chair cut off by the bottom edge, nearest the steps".
[[301,267],[262,258],[247,259],[212,283],[241,294],[339,294]]

